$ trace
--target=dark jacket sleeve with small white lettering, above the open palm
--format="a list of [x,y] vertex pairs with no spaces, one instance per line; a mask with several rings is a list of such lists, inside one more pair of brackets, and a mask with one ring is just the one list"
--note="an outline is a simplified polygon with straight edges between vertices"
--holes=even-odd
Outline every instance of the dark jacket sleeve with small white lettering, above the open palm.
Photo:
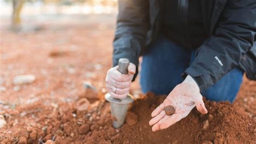
[[196,58],[183,76],[192,76],[203,92],[238,66],[253,46],[256,25],[255,0],[228,0],[214,30],[196,51]]

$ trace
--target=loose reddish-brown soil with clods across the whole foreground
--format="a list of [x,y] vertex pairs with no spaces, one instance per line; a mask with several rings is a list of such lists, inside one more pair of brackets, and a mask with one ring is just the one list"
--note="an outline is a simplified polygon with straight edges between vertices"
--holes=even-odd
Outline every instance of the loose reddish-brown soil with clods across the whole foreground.
[[[158,132],[149,126],[151,112],[164,100],[149,93],[134,101],[121,128],[112,127],[110,104],[98,100],[87,111],[78,111],[75,104],[44,106],[35,104],[5,112],[6,129],[16,131],[0,137],[2,143],[253,143],[255,119],[244,114],[238,105],[206,101],[208,114],[196,108],[183,120]],[[31,109],[37,111],[31,112]],[[28,112],[21,118],[19,112]],[[34,118],[31,121],[31,116]],[[133,117],[136,118],[133,118]],[[17,122],[18,121],[18,122]]]

